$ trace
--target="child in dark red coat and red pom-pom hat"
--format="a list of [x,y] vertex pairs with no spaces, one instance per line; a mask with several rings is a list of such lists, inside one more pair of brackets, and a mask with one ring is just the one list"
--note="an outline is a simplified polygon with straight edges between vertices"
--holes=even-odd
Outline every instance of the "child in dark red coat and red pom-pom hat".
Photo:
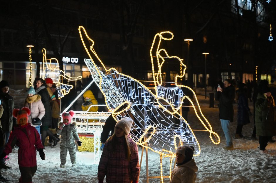
[[45,160],[43,145],[40,135],[35,127],[28,123],[31,110],[27,107],[13,110],[13,116],[17,119],[17,125],[14,127],[8,143],[5,146],[1,158],[12,152],[15,145],[18,149],[18,165],[21,173],[19,182],[32,182],[32,177],[36,172],[36,149],[42,160]]

